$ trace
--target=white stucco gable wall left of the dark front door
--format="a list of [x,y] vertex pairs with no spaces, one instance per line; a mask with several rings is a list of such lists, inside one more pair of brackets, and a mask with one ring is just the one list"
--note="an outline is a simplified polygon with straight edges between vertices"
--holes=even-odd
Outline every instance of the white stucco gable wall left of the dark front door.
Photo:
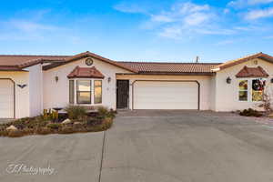
[[[116,73],[130,73],[123,68],[110,65],[106,62],[93,58],[95,66],[105,78],[102,82],[102,104],[92,106],[107,106],[108,108],[116,109]],[[69,104],[69,75],[76,66],[86,66],[86,58],[72,62],[64,66],[58,66],[53,69],[44,71],[44,108],[66,107]],[[55,77],[58,76],[58,82]],[[111,81],[108,82],[108,77]],[[94,88],[92,88],[94,89]]]

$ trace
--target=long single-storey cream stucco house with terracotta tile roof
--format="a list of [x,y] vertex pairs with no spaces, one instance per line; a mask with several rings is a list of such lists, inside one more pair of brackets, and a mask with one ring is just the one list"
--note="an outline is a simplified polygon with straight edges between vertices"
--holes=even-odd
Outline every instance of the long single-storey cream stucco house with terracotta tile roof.
[[76,56],[0,56],[0,117],[68,105],[233,111],[258,107],[272,87],[273,57],[226,63],[116,62]]

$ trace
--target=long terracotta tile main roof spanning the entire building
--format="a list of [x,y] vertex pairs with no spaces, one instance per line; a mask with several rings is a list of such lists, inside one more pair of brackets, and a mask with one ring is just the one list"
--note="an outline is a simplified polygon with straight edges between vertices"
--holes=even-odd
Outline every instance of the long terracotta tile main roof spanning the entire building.
[[229,66],[235,66],[254,58],[262,58],[273,63],[273,57],[264,53],[258,53],[251,56],[245,56],[236,60],[227,61],[226,63],[157,63],[157,62],[117,62],[107,59],[103,56],[85,52],[76,56],[5,56],[0,55],[1,70],[22,70],[27,66],[33,66],[39,63],[51,63],[43,66],[48,70],[57,66],[63,66],[80,58],[95,57],[110,65],[118,66],[136,74],[157,74],[157,75],[212,75],[213,72],[224,69]]

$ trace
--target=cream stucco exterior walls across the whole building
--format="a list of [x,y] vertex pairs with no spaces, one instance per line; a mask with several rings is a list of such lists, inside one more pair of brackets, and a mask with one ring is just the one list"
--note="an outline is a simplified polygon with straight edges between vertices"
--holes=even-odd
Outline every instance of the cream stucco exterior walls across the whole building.
[[[15,117],[38,116],[42,114],[43,109],[54,107],[66,107],[69,105],[69,79],[67,76],[76,68],[79,67],[96,67],[103,76],[102,79],[102,103],[91,104],[84,106],[106,106],[116,110],[116,80],[129,81],[129,99],[128,108],[134,109],[133,97],[134,84],[138,80],[148,81],[191,81],[197,82],[198,88],[198,108],[200,110],[213,111],[235,111],[249,107],[261,109],[261,102],[239,101],[238,99],[238,82],[240,80],[251,80],[253,78],[238,78],[236,75],[243,69],[248,67],[262,67],[268,74],[267,77],[267,92],[273,94],[273,64],[260,58],[251,58],[248,61],[240,64],[234,64],[226,68],[215,69],[214,73],[207,76],[197,76],[194,73],[189,73],[188,76],[172,76],[168,75],[144,75],[143,73],[133,73],[128,71],[131,69],[121,68],[115,64],[111,64],[99,57],[92,57],[92,66],[86,66],[85,58],[76,58],[72,62],[68,62],[62,66],[51,67],[43,70],[43,66],[48,63],[39,63],[34,66],[29,66],[21,71],[1,71],[0,78],[8,78],[15,83]],[[231,78],[231,83],[227,83],[227,77]],[[57,79],[56,79],[57,78]],[[73,78],[75,80],[90,80],[90,78]],[[93,78],[92,78],[93,79]],[[95,78],[94,80],[100,80]],[[249,81],[250,83],[250,81]],[[21,88],[18,85],[26,85]],[[188,86],[187,86],[188,87]],[[175,88],[172,88],[173,90]],[[163,90],[163,89],[161,89]],[[183,90],[188,93],[187,89]],[[94,86],[92,86],[94,92]],[[179,96],[180,91],[177,93]],[[163,94],[164,95],[164,94]],[[162,97],[162,96],[161,96]],[[251,97],[251,92],[248,93]],[[76,98],[76,92],[75,92]],[[126,96],[127,98],[127,96]],[[150,96],[149,98],[153,98]],[[94,98],[92,98],[93,100]],[[147,100],[147,99],[146,99]],[[191,99],[193,100],[193,99]],[[187,103],[186,100],[183,100]],[[94,103],[94,102],[92,102]],[[149,101],[149,104],[152,102]],[[167,102],[165,102],[167,103]],[[164,104],[165,104],[164,103]],[[171,102],[168,102],[170,105]],[[182,101],[180,102],[182,103]],[[75,103],[76,105],[76,103]],[[147,105],[145,105],[147,106]],[[0,116],[1,117],[1,116]]]

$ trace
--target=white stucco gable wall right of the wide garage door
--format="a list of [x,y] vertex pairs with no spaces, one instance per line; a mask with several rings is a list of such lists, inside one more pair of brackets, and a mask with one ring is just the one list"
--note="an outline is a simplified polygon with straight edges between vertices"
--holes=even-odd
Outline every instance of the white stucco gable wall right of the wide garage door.
[[[258,65],[255,64],[255,61],[258,61]],[[270,79],[273,77],[273,64],[268,63],[262,59],[249,60],[248,62],[239,64],[237,66],[231,66],[218,71],[216,76],[216,111],[235,111],[249,107],[255,109],[259,108],[258,105],[261,104],[260,102],[252,102],[251,100],[238,100],[238,80],[243,80],[245,78],[237,78],[236,75],[244,66],[261,66],[268,73],[269,76],[267,84],[272,88]],[[227,84],[227,76],[232,79],[231,84]]]

